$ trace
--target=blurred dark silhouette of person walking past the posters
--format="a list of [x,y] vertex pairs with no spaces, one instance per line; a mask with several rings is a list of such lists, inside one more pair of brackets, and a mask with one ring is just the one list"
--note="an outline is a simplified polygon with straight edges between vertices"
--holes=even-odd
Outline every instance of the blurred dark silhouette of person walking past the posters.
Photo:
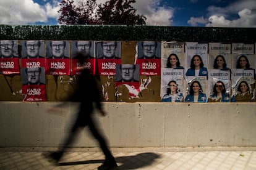
[[[80,62],[82,62],[83,54],[77,54],[77,58],[80,60]],[[96,103],[95,106],[98,108],[102,116],[105,116],[106,112],[101,106],[100,92],[98,91],[95,77],[87,69],[83,69],[79,75],[77,88],[75,89],[74,94],[70,96],[69,101],[80,103],[76,121],[70,129],[69,135],[64,141],[63,147],[59,148],[57,152],[50,153],[48,158],[58,162],[61,159],[63,153],[66,151],[66,147],[74,142],[74,137],[78,132],[77,130],[88,126],[92,132],[93,137],[98,140],[101,150],[105,155],[105,162],[101,164],[98,169],[116,168],[116,161],[114,160],[114,157],[106,144],[106,140],[97,129],[96,124],[92,118],[93,102]],[[49,111],[54,111],[55,109],[57,108],[50,108]]]

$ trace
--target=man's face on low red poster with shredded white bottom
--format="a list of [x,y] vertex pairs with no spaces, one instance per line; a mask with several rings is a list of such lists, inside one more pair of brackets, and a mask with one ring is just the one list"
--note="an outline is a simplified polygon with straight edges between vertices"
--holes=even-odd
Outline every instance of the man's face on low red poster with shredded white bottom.
[[133,81],[135,65],[133,64],[122,64],[120,65],[122,81]]

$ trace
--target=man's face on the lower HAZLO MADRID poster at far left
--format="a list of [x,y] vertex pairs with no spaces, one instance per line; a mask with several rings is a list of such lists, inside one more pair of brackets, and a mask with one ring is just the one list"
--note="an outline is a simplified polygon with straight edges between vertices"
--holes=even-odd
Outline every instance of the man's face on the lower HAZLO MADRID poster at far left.
[[25,71],[27,73],[28,84],[40,83],[40,75],[41,75],[40,67],[25,68]]

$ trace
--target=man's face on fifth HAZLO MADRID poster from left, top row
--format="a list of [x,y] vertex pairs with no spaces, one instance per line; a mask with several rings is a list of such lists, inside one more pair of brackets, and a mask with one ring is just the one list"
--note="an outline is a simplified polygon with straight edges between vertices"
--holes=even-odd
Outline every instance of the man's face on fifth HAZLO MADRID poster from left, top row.
[[101,43],[103,56],[106,59],[113,59],[116,54],[117,42],[102,42]]

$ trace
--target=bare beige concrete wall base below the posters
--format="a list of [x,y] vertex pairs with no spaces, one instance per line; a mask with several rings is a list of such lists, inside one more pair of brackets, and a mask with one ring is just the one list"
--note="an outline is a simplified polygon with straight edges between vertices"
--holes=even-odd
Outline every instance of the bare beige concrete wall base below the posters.
[[[0,102],[0,147],[58,147],[76,104],[48,113],[51,102]],[[256,147],[256,103],[105,102],[95,114],[111,147]],[[98,147],[88,129],[73,147]]]

